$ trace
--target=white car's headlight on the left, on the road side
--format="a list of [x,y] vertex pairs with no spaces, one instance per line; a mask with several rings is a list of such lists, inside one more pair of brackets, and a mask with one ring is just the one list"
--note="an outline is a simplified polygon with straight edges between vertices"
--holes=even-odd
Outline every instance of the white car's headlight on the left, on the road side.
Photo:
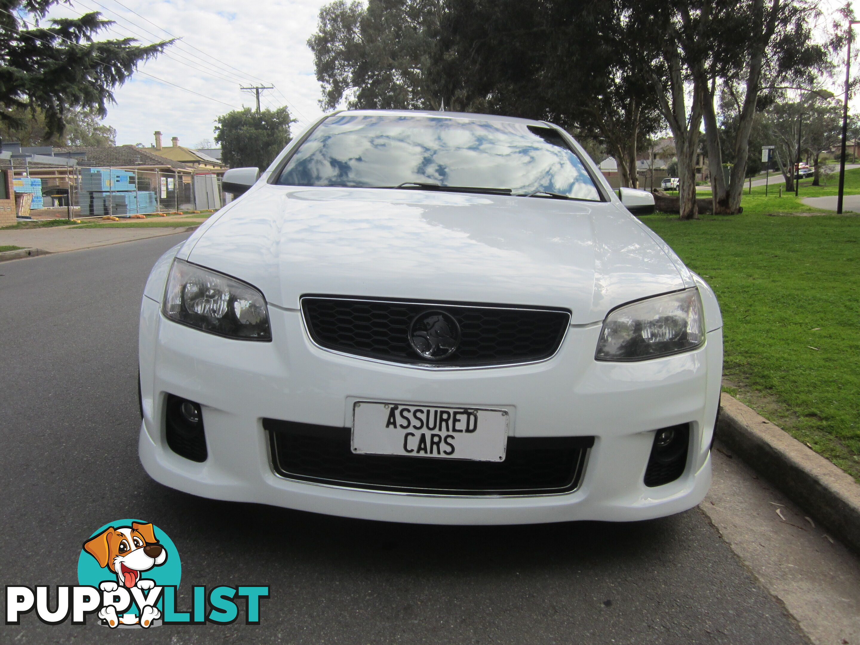
[[263,294],[223,273],[174,260],[164,290],[164,316],[210,334],[271,341]]

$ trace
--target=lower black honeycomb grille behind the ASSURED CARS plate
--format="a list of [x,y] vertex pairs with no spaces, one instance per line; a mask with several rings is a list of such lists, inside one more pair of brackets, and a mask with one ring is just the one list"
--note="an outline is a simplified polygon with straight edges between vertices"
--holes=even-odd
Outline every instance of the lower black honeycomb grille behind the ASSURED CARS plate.
[[349,488],[447,495],[554,494],[581,481],[593,437],[507,439],[503,462],[357,455],[348,427],[264,419],[280,476]]

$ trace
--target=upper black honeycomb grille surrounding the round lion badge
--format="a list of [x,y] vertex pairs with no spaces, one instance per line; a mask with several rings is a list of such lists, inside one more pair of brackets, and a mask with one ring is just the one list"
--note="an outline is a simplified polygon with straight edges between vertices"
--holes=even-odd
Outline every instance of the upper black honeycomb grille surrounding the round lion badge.
[[409,345],[409,325],[427,310],[442,310],[460,326],[456,352],[433,365],[510,365],[556,353],[570,322],[566,310],[489,305],[302,298],[304,320],[317,345],[368,358],[427,365]]

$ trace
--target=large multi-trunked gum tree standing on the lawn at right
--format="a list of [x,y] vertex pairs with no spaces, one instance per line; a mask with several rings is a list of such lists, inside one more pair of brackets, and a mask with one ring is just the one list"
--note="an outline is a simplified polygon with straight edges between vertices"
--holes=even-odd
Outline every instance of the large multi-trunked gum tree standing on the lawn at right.
[[[814,0],[617,0],[633,33],[636,70],[652,80],[678,150],[680,217],[697,217],[695,162],[704,126],[710,168],[723,165],[714,100],[720,83],[744,89],[734,140],[734,169],[726,184],[711,173],[715,212],[737,212],[746,175],[749,136],[762,89],[827,71],[841,45],[812,39],[820,17]],[[621,43],[619,43],[621,46]]]

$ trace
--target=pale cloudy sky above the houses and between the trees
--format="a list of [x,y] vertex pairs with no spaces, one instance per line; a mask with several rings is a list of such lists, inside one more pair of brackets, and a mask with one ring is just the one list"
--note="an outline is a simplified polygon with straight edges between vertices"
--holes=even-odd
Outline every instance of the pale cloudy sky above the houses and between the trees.
[[[262,93],[261,107],[286,105],[298,119],[294,133],[322,114],[318,104],[322,93],[307,40],[327,2],[71,0],[69,5],[57,5],[51,15],[99,11],[116,22],[102,38],[131,36],[146,43],[179,38],[115,90],[116,103],[104,122],[116,129],[117,144],[149,146],[153,132],[159,130],[164,144],[178,137],[181,145],[198,147],[214,138],[218,115],[255,106],[254,94],[241,87],[274,86]],[[826,22],[842,2],[821,1]],[[826,86],[839,93],[842,83],[844,76]],[[860,108],[860,97],[851,101],[851,107]]]

